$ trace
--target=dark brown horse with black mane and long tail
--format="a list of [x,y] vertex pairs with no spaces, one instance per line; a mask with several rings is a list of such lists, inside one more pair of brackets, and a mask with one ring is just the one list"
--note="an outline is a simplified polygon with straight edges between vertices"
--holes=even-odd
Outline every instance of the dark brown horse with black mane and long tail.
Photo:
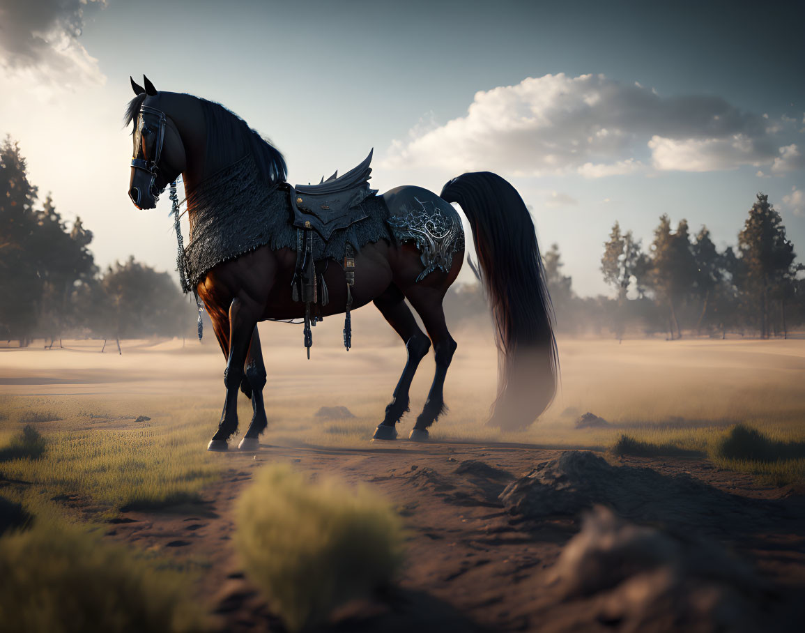
[[[251,399],[253,408],[251,423],[238,448],[258,449],[267,418],[262,399],[266,367],[257,324],[310,317],[306,313],[310,304],[306,306],[299,296],[292,296],[291,287],[299,272],[299,236],[309,239],[308,233],[315,231],[302,233],[297,229],[294,244],[272,246],[275,234],[284,235],[291,218],[287,201],[280,201],[279,210],[274,212],[266,210],[270,205],[264,201],[293,195],[294,189],[285,182],[283,155],[242,118],[213,101],[159,91],[147,77],[144,87],[134,79],[130,82],[135,96],[126,107],[124,121],[126,126],[133,126],[134,137],[131,201],[138,209],[154,209],[159,194],[182,177],[191,239],[185,251],[189,253],[194,244],[199,245],[196,251],[202,260],[188,283],[208,312],[226,361],[224,408],[208,450],[228,449],[229,438],[237,432],[238,391]],[[236,180],[246,184],[237,188],[233,184]],[[555,395],[559,366],[551,299],[535,226],[517,190],[497,174],[472,172],[450,180],[438,196],[414,185],[394,188],[381,196],[367,191],[370,195],[358,206],[374,205],[376,234],[368,242],[356,244],[351,260],[352,285],[351,271],[332,256],[317,263],[313,279],[319,279],[320,294],[325,288],[328,294],[326,305],[315,306],[318,318],[349,314],[350,308],[371,301],[406,346],[407,362],[373,439],[397,438],[396,424],[409,411],[411,381],[431,345],[436,373],[409,438],[427,441],[428,428],[446,410],[444,380],[457,344],[448,331],[442,301],[464,260],[463,228],[452,203],[460,205],[469,220],[477,267],[472,260],[469,265],[484,285],[495,325],[497,397],[488,424],[515,429],[533,423]],[[425,219],[431,221],[427,225],[431,229],[419,225],[417,233],[411,226],[411,215],[401,211],[406,205],[427,209],[430,216]],[[246,217],[244,209],[251,209],[253,215]],[[253,216],[262,219],[254,221]],[[361,222],[369,220],[355,226],[361,230]],[[402,229],[391,230],[392,220],[398,227],[402,222]],[[433,234],[432,221],[453,220],[457,220],[458,228],[453,231],[452,242],[440,241],[440,235]],[[243,241],[238,231],[249,235],[273,233],[254,238],[242,249],[244,252],[227,251],[229,255],[218,257],[221,261],[205,260],[204,244],[200,244],[204,227],[213,226],[204,233],[212,237],[204,239],[214,241],[224,232],[216,227],[226,223],[229,233],[234,232],[231,242]],[[275,228],[269,231],[269,225]],[[380,225],[385,225],[382,230],[377,228]],[[425,236],[427,239],[419,239],[428,231],[431,234]],[[331,239],[336,240],[341,233],[334,232]],[[320,236],[312,237],[319,240],[316,243],[324,243]],[[438,261],[433,260],[434,249],[441,255]],[[321,246],[319,252],[324,252]],[[181,259],[180,242],[180,266]],[[427,335],[407,303],[419,314]],[[314,325],[316,318],[312,317]]]

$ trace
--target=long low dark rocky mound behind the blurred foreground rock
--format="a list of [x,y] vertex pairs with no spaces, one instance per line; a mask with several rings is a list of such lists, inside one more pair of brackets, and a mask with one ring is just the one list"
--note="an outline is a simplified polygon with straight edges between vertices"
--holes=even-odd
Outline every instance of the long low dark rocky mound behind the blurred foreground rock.
[[599,504],[628,519],[687,531],[751,532],[786,519],[777,502],[729,494],[688,474],[609,465],[583,451],[568,451],[537,465],[506,486],[500,499],[516,519],[537,523],[578,516]]

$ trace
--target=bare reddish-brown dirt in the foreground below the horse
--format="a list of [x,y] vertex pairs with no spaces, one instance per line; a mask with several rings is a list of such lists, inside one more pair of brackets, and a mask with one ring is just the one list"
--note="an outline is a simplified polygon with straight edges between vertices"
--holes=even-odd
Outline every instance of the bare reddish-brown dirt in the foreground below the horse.
[[[528,445],[372,445],[365,449],[278,447],[233,453],[221,482],[204,502],[164,512],[126,512],[109,538],[176,556],[204,558],[201,595],[212,606],[221,631],[279,631],[257,590],[243,577],[229,541],[232,506],[254,470],[268,461],[292,461],[303,470],[341,474],[370,482],[390,499],[409,530],[407,565],[393,594],[353,604],[336,614],[338,631],[611,631],[595,613],[582,617],[572,602],[551,595],[550,570],[579,531],[577,517],[556,516],[536,527],[514,521],[497,499],[510,478],[473,478],[462,465],[481,462],[523,474],[563,451]],[[791,519],[737,536],[725,525],[701,532],[725,544],[769,579],[782,596],[805,590],[805,504],[791,490],[762,487],[749,476],[719,472],[700,459],[630,458],[624,465],[649,466],[660,474],[680,473],[746,499],[782,499]],[[576,609],[578,605],[576,604]],[[781,616],[792,623],[795,614]],[[682,630],[669,627],[667,630]],[[785,630],[781,627],[778,630]]]

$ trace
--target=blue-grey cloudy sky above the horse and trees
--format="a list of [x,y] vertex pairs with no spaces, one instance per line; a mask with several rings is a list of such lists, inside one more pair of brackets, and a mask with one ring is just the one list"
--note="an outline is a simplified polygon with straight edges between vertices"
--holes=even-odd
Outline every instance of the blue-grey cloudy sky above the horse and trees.
[[0,0],[0,134],[101,266],[175,269],[167,195],[127,196],[122,112],[145,73],[245,118],[293,184],[372,147],[381,192],[497,172],[576,292],[611,293],[614,221],[648,246],[667,213],[725,247],[757,192],[805,261],[803,18],[803,2]]

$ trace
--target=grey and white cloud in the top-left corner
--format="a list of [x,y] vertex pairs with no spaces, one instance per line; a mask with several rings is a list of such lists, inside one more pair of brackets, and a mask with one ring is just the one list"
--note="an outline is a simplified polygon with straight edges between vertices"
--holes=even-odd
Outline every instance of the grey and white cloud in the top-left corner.
[[103,84],[97,60],[78,41],[90,4],[105,0],[0,0],[0,67],[48,84]]

